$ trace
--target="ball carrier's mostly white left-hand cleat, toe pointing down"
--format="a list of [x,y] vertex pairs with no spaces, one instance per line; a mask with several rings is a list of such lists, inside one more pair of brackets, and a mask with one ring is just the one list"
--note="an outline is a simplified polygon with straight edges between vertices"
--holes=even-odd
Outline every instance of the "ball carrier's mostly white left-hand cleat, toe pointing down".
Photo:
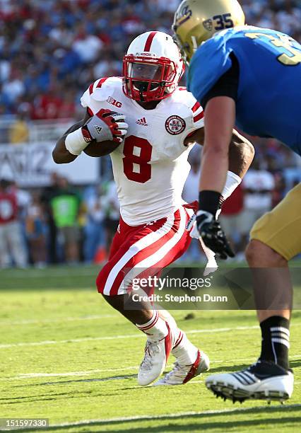
[[172,350],[172,334],[167,325],[168,334],[162,340],[146,340],[143,361],[138,371],[138,384],[147,386],[163,373]]

